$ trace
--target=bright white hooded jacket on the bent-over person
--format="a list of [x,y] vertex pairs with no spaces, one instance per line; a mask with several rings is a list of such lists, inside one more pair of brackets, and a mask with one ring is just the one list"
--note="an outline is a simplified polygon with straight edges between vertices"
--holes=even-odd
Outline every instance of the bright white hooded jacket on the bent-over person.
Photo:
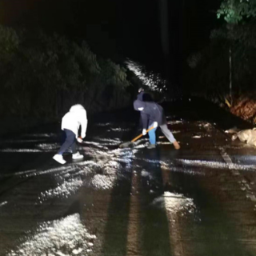
[[79,126],[81,126],[81,137],[86,137],[87,129],[87,115],[86,110],[82,105],[71,106],[70,111],[62,118],[62,130],[72,130],[78,138]]

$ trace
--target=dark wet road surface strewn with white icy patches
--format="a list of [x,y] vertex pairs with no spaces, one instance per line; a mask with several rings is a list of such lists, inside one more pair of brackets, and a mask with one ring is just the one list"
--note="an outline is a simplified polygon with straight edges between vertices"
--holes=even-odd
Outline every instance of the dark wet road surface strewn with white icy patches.
[[224,133],[247,124],[164,107],[181,150],[160,131],[119,149],[140,131],[129,110],[95,118],[64,166],[58,125],[1,138],[0,255],[255,255],[256,149]]

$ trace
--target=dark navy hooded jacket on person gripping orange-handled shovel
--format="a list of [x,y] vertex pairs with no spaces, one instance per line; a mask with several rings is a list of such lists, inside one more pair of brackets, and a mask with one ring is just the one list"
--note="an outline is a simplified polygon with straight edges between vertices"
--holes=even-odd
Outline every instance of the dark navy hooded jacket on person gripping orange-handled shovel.
[[[143,107],[142,111],[138,110],[139,107]],[[154,122],[158,122],[158,126],[166,124],[166,115],[162,106],[155,102],[142,102],[139,100],[134,101],[134,110],[141,112],[143,129],[147,129]]]

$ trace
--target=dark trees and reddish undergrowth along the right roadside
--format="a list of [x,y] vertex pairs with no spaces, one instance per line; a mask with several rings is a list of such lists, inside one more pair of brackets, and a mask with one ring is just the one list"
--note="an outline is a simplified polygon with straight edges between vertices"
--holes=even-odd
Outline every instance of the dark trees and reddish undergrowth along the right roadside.
[[256,1],[223,0],[210,43],[190,54],[191,92],[256,123]]

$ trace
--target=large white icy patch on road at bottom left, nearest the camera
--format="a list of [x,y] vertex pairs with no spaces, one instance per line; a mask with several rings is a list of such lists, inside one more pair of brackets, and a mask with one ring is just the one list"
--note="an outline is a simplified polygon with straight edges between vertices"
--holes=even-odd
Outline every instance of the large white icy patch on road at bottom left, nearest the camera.
[[91,250],[89,243],[96,238],[87,232],[79,214],[43,222],[35,233],[7,256],[86,255],[86,250]]

